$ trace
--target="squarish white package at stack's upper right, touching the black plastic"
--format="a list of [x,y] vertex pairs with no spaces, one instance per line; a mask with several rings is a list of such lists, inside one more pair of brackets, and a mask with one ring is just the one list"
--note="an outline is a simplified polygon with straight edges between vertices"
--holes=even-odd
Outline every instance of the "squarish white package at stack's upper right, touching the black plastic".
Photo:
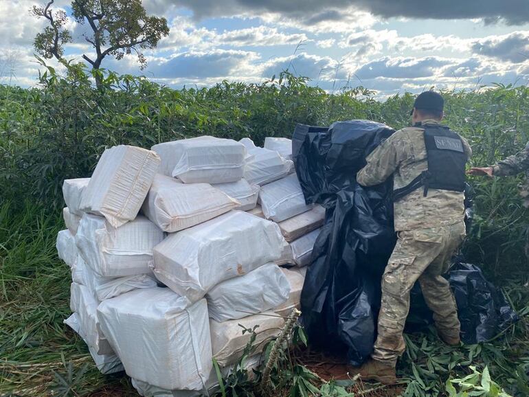
[[274,222],[292,218],[312,208],[312,205],[305,204],[296,174],[261,186],[259,203],[264,216]]

